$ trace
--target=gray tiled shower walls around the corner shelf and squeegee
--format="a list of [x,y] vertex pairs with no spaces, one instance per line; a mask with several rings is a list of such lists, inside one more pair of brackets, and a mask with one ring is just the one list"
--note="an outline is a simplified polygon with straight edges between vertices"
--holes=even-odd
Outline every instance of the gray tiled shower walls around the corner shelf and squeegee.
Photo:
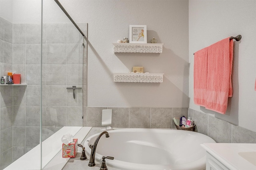
[[[87,32],[87,23],[79,26]],[[15,71],[27,86],[0,86],[0,170],[39,144],[41,25],[0,18],[0,75]],[[83,37],[72,23],[43,25],[42,125],[46,139],[82,126]],[[86,45],[85,45],[86,46]],[[86,61],[86,58],[84,58]],[[86,87],[86,86],[85,86]],[[85,90],[86,92],[86,90]]]

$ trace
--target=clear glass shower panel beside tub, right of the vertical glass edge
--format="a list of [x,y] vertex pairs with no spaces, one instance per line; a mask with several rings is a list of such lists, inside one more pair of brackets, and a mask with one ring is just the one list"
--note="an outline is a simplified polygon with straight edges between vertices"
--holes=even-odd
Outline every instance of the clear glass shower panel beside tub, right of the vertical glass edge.
[[[71,15],[71,14],[70,14]],[[87,23],[77,23],[87,32]],[[83,126],[83,36],[54,0],[43,1],[42,168],[62,149],[63,127]],[[55,135],[53,135],[55,134]],[[75,135],[75,134],[71,134]],[[57,139],[54,139],[56,138]],[[51,156],[50,156],[51,155]]]

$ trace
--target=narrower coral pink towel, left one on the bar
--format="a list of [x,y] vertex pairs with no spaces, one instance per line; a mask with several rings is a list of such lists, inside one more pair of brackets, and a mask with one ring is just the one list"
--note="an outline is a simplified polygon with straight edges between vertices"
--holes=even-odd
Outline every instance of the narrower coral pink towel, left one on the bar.
[[208,48],[194,54],[194,102],[206,106]]

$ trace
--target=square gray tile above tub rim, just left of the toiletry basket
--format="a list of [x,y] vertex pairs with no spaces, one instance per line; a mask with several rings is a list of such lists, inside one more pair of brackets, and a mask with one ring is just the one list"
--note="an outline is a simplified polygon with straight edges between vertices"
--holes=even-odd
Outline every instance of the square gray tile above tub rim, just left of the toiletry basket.
[[151,128],[171,128],[172,108],[151,108]]

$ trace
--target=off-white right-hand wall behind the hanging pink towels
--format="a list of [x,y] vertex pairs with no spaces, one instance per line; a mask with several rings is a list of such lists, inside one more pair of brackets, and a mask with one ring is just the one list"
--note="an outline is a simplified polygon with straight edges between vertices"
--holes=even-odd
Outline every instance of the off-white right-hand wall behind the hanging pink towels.
[[[189,1],[189,107],[215,115],[246,129],[256,131],[256,1]],[[242,35],[234,43],[233,97],[226,115],[194,104],[193,53],[229,36]]]

